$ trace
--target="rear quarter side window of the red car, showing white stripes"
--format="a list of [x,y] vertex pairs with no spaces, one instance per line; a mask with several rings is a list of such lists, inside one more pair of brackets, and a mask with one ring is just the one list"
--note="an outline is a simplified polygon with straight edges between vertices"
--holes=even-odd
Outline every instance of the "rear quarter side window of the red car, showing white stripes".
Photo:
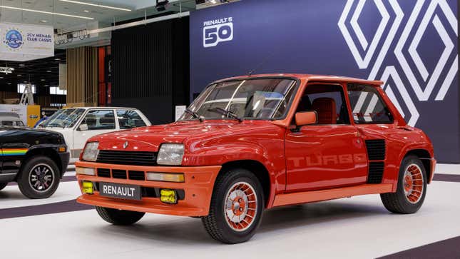
[[374,86],[350,84],[349,101],[352,106],[354,123],[392,123],[393,116]]

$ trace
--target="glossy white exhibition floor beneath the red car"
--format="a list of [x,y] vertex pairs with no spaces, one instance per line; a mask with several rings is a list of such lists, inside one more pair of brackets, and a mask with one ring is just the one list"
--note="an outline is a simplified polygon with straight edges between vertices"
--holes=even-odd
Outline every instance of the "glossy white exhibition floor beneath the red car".
[[[376,258],[459,236],[459,191],[460,183],[435,181],[413,215],[388,213],[379,195],[277,208],[264,214],[252,240],[238,245],[215,242],[197,218],[150,214],[129,227],[109,225],[95,210],[9,218],[0,220],[0,257]],[[0,208],[43,202],[21,198],[17,186],[6,194]],[[46,203],[76,195],[75,182],[62,183]]]

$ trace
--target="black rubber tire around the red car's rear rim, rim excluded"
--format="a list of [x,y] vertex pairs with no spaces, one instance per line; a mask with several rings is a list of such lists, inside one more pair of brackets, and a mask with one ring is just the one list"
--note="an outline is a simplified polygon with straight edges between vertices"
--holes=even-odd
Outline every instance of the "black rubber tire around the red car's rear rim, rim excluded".
[[[404,190],[404,174],[409,166],[417,166],[416,170],[419,170],[421,173],[421,179],[417,181],[423,181],[423,186],[421,191],[416,191],[416,195],[419,195],[417,200],[410,201],[406,191]],[[401,167],[399,168],[399,177],[398,177],[398,186],[396,193],[382,193],[380,198],[382,198],[382,203],[384,203],[385,208],[392,213],[401,213],[401,214],[410,214],[416,213],[417,210],[421,208],[421,205],[424,203],[426,195],[426,182],[427,176],[426,171],[421,163],[420,159],[417,156],[407,156],[402,160]],[[409,187],[409,185],[407,185]],[[416,195],[409,195],[411,198],[415,198]]]

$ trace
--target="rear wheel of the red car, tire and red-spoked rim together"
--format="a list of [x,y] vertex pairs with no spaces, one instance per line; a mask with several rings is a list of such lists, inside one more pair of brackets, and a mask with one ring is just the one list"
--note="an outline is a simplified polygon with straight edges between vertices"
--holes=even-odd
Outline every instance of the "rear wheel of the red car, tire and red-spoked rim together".
[[382,193],[385,208],[392,213],[416,213],[426,195],[426,171],[420,159],[407,156],[399,169],[396,193]]

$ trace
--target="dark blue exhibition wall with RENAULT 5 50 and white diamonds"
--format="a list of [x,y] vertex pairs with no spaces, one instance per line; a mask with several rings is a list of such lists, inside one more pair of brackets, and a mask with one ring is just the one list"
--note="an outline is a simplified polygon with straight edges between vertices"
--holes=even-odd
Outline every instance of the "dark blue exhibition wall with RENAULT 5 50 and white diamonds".
[[460,163],[457,1],[242,0],[190,14],[190,98],[219,78],[381,79],[406,121]]

